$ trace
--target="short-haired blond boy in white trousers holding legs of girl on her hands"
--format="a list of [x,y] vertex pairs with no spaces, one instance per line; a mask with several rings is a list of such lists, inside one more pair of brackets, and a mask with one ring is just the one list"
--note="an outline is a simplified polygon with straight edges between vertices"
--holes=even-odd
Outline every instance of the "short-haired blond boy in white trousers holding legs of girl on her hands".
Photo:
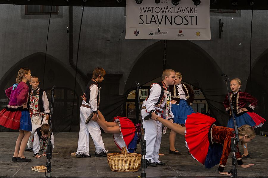
[[[174,84],[175,71],[172,69],[166,69],[162,74],[162,82],[153,83],[151,85],[150,95],[143,102],[141,110],[141,116],[144,119],[149,113],[152,113],[152,118],[164,117],[166,119],[173,118],[171,112],[171,103],[169,92],[169,85]],[[155,114],[157,112],[157,115]],[[163,115],[162,115],[163,112]],[[143,121],[143,127],[145,128],[146,138],[146,156],[147,160],[151,159],[152,163],[148,163],[148,166],[164,165],[164,163],[158,160],[159,149],[162,137],[162,123],[155,120]],[[166,128],[165,128],[166,129]],[[165,133],[165,129],[163,133]]]

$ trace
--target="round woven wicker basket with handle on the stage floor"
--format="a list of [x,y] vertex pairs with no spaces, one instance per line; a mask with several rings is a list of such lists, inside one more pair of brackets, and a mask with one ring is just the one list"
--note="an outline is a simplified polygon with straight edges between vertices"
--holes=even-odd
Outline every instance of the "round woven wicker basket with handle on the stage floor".
[[108,153],[107,161],[111,171],[137,172],[141,167],[141,154],[128,153],[123,147],[121,153]]

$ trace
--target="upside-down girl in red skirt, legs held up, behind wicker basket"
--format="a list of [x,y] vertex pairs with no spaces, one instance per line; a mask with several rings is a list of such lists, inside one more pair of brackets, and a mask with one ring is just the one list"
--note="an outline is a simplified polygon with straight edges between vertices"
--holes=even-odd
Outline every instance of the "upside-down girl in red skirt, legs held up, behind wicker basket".
[[96,122],[105,131],[105,133],[113,134],[113,140],[119,150],[122,147],[127,148],[127,152],[133,153],[137,149],[138,132],[136,125],[127,117],[115,117],[113,122],[107,122],[100,111],[98,111],[98,119]]

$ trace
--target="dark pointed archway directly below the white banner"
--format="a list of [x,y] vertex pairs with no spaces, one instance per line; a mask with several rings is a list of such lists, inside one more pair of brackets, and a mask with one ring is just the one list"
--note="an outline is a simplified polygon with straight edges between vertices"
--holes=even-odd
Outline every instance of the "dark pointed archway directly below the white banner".
[[[162,75],[164,40],[147,47],[136,59],[127,79],[124,91],[133,90],[134,81],[141,85]],[[187,40],[168,40],[166,49],[167,67],[180,71],[183,80],[199,88],[204,94],[211,114],[222,125],[228,115],[223,107],[226,96],[224,78],[216,62],[198,45]]]

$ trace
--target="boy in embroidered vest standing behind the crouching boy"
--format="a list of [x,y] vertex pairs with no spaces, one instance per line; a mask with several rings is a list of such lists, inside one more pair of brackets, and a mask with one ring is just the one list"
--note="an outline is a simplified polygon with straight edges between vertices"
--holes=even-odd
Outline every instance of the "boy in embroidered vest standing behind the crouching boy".
[[46,92],[39,88],[39,79],[37,76],[32,76],[30,85],[32,88],[29,89],[29,99],[28,99],[28,108],[32,120],[32,131],[31,136],[28,141],[28,148],[24,152],[31,152],[33,147],[33,136],[35,129],[40,127],[43,123],[48,123],[50,110],[49,110],[49,101],[46,96]]

